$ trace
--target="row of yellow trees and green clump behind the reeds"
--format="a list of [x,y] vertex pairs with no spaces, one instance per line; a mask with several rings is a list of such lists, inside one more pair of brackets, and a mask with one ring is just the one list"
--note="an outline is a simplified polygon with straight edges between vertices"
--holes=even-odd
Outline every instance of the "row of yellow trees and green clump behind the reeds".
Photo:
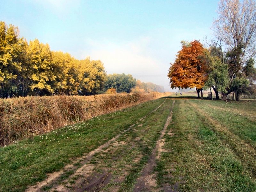
[[136,79],[128,74],[107,75],[100,60],[77,60],[51,51],[38,39],[27,43],[14,25],[0,21],[0,97],[28,95],[90,95],[109,88],[129,93]]

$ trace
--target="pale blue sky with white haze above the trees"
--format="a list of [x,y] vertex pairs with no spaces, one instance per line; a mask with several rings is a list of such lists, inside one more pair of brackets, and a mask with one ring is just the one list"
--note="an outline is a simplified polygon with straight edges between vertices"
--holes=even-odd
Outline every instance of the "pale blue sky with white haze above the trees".
[[76,59],[101,60],[107,74],[132,74],[172,91],[167,77],[181,40],[212,35],[217,0],[2,0],[0,20]]

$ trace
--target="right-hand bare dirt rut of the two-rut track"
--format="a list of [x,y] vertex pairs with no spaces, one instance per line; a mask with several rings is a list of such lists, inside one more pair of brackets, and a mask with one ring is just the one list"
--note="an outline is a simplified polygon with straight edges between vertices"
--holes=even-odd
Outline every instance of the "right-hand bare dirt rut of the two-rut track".
[[[148,163],[144,167],[144,169],[141,172],[141,176],[137,179],[137,183],[134,187],[134,192],[140,192],[140,191],[155,191],[154,188],[156,187],[156,174],[152,173],[154,167],[156,166],[156,152],[161,153],[159,151],[161,140],[164,137],[164,134],[166,132],[166,129],[170,122],[172,121],[172,109],[174,106],[175,100],[173,100],[172,107],[170,110],[170,114],[167,117],[166,123],[164,124],[164,128],[160,132],[160,136],[156,142],[156,147],[153,149],[151,156],[149,157]],[[159,155],[159,154],[158,154]]]

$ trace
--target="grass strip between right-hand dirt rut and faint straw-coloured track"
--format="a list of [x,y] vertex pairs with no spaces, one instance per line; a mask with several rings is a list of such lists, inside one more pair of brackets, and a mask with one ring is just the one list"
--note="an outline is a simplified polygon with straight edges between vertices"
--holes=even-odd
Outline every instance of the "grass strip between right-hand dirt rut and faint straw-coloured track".
[[163,152],[157,162],[159,187],[168,184],[181,191],[255,191],[251,167],[205,119],[205,113],[198,112],[190,102],[208,108],[207,101],[177,100],[173,124],[168,127],[175,135],[166,135],[164,145],[172,151]]

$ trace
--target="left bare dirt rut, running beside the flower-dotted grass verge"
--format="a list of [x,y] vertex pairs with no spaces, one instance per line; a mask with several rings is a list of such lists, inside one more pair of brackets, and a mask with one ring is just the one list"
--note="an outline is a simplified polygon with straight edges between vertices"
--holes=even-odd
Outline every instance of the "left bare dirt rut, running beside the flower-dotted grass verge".
[[[128,129],[124,130],[123,132],[118,134],[116,137],[112,138],[111,140],[109,140],[108,142],[106,142],[103,145],[99,146],[98,148],[94,149],[93,151],[85,154],[84,156],[77,158],[73,162],[73,164],[66,165],[60,171],[48,174],[48,177],[44,181],[39,182],[36,185],[29,186],[28,189],[26,190],[26,192],[41,192],[41,191],[44,191],[42,188],[44,188],[45,186],[47,186],[49,184],[50,185],[54,185],[54,188],[55,188],[54,190],[55,191],[70,191],[69,188],[66,188],[63,185],[57,185],[56,186],[56,184],[54,184],[57,180],[59,180],[61,175],[65,173],[64,170],[73,171],[73,172],[76,170],[74,174],[69,176],[69,178],[71,178],[71,176],[74,177],[74,176],[80,175],[80,174],[89,175],[89,173],[92,172],[92,169],[93,169],[94,166],[89,166],[88,167],[88,163],[92,160],[92,157],[96,153],[99,153],[104,148],[107,148],[113,141],[118,139],[122,134],[124,134],[125,132],[131,130],[135,125],[139,124],[141,121],[143,121],[145,118],[147,118],[150,114],[154,113],[165,102],[166,102],[166,100],[160,106],[155,108],[153,111],[149,112],[146,116],[140,118],[135,124],[132,124]],[[77,163],[83,164],[83,166],[78,169],[78,165],[76,165]],[[105,177],[103,177],[103,178],[105,178]]]

